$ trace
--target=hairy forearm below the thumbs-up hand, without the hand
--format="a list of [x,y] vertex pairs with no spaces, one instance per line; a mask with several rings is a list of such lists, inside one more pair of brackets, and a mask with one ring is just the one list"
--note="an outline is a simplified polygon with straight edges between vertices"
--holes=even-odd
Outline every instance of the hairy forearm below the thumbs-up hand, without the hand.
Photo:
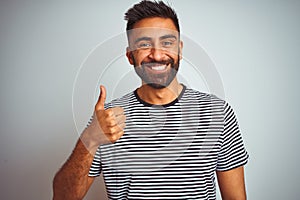
[[88,177],[94,155],[79,139],[71,156],[57,172],[53,181],[53,199],[82,199],[93,178]]

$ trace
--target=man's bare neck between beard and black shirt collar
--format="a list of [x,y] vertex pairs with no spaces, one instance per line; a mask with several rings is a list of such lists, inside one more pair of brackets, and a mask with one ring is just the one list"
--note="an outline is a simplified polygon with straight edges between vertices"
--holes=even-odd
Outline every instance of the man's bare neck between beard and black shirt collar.
[[161,89],[155,89],[143,83],[143,85],[138,88],[137,93],[139,97],[147,103],[165,105],[177,99],[182,88],[182,85],[174,78],[169,86]]

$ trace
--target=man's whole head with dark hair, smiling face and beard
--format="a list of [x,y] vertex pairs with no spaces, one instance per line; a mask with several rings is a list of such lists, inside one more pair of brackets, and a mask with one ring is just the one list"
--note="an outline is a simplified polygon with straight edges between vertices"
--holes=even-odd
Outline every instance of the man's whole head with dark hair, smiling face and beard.
[[181,59],[178,18],[163,2],[142,1],[125,14],[127,57],[143,84],[160,89],[176,77]]

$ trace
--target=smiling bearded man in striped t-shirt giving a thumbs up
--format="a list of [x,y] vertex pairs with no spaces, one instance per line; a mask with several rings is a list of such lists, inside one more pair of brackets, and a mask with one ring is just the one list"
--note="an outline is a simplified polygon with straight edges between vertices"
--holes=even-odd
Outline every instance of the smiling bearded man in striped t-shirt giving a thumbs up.
[[176,13],[142,1],[125,14],[126,56],[142,85],[105,104],[54,178],[54,199],[82,199],[103,173],[109,199],[246,199],[248,160],[231,107],[176,78],[183,42]]

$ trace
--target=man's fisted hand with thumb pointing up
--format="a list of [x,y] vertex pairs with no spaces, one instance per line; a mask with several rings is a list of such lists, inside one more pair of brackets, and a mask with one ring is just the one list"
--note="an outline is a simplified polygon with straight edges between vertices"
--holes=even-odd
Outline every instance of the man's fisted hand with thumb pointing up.
[[96,117],[96,119],[94,120],[97,120],[101,132],[100,134],[105,136],[105,138],[102,138],[101,143],[114,143],[124,134],[126,117],[121,107],[113,107],[105,110],[105,87],[100,86],[100,91],[99,99],[95,106],[94,117]]

